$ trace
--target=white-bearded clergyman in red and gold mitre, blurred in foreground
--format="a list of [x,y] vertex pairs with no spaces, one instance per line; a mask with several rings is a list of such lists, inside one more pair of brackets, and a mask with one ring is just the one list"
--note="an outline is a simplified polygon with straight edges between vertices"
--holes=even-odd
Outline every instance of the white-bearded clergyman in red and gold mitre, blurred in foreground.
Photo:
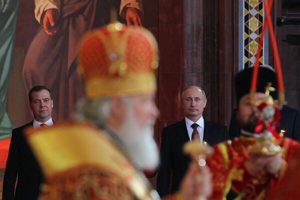
[[[152,137],[158,50],[143,28],[110,24],[84,37],[79,67],[87,99],[77,120],[27,136],[46,176],[41,199],[159,199],[141,168],[159,163]],[[199,178],[199,175],[201,178]],[[208,168],[191,165],[168,199],[206,197]]]

